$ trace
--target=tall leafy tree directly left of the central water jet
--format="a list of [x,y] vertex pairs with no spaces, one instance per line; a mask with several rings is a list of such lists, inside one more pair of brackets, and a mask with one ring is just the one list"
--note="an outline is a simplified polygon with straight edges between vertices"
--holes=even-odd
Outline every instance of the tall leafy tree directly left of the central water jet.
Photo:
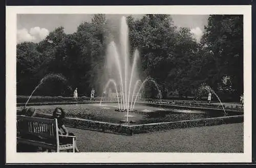
[[[81,49],[81,66],[79,81],[85,88],[84,93],[90,94],[92,88],[96,92],[103,88],[103,72],[105,50],[108,43],[109,30],[106,25],[105,15],[97,14],[92,18],[92,22],[83,22],[75,33],[77,44]],[[83,70],[82,70],[83,69]]]

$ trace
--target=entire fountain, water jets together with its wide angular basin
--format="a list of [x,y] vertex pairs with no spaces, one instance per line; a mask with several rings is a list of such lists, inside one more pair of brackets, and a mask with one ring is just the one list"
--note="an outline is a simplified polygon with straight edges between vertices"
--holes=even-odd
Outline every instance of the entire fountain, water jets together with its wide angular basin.
[[[163,128],[175,129],[194,126],[201,127],[202,124],[205,126],[211,126],[224,123],[243,122],[243,114],[241,114],[243,113],[242,110],[230,111],[230,109],[228,109],[229,116],[223,117],[222,110],[219,109],[214,110],[214,113],[212,113],[212,109],[187,109],[187,107],[171,106],[169,104],[159,105],[158,103],[141,103],[142,105],[136,106],[138,113],[130,113],[135,111],[135,104],[142,88],[145,86],[145,83],[154,83],[159,93],[158,98],[160,99],[161,93],[153,78],[147,77],[144,80],[140,80],[138,77],[138,49],[135,49],[132,57],[133,62],[132,65],[130,65],[128,33],[128,26],[126,24],[125,17],[122,17],[120,42],[117,43],[119,45],[114,41],[110,42],[106,53],[107,62],[105,67],[107,69],[104,72],[108,75],[108,81],[106,82],[103,91],[106,91],[108,87],[113,86],[116,92],[118,106],[109,105],[109,107],[100,107],[98,104],[95,105],[94,103],[81,103],[78,108],[77,104],[73,104],[72,102],[61,103],[59,106],[66,108],[67,116],[69,116],[67,117],[67,121],[70,127],[81,129],[93,128],[94,130],[104,132],[126,134],[129,132],[133,134],[161,130]],[[35,87],[27,100],[25,106],[29,102],[33,93],[43,85],[49,77],[52,76],[54,76],[54,74],[47,75],[40,80],[39,84]],[[205,87],[205,89],[208,89],[215,94],[222,104],[219,96],[214,92],[214,90],[208,86]],[[102,98],[100,100],[100,105],[101,102]],[[159,108],[159,106],[164,108]],[[47,104],[37,106],[37,108],[44,113],[40,115],[38,114],[38,117],[49,117],[49,111],[51,111],[50,109],[53,107],[54,106]],[[222,107],[226,115],[223,104]],[[119,113],[119,111],[124,111],[125,114],[123,115],[122,113]],[[218,113],[219,111],[220,113]],[[129,117],[130,119],[133,118],[130,122]],[[126,121],[123,120],[124,118],[126,118]],[[127,124],[120,124],[120,121],[124,121],[122,123],[126,122]],[[134,125],[129,125],[128,123]]]

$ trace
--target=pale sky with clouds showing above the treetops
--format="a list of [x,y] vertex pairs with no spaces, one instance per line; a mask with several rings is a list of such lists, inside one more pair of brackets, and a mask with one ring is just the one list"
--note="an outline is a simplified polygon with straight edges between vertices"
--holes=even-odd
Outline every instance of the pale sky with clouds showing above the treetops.
[[[117,20],[120,16],[106,14],[106,18],[111,20]],[[139,19],[143,15],[132,16]],[[18,14],[17,43],[44,40],[58,26],[63,26],[65,33],[72,34],[81,22],[90,22],[92,17],[93,14]],[[174,24],[178,27],[188,27],[198,42],[208,17],[209,15],[172,15]]]

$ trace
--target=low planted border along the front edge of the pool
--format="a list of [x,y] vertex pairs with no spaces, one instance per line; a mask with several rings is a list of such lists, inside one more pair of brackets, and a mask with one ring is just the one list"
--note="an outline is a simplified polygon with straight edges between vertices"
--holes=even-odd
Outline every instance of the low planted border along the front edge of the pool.
[[[48,118],[51,116],[46,114],[37,114],[37,117]],[[186,128],[186,127],[203,127],[203,126],[214,126],[214,125],[229,124],[229,123],[242,123],[243,120],[244,120],[243,115],[240,115],[240,116],[226,116],[226,117],[175,121],[175,122],[125,125],[125,124],[115,124],[115,123],[68,117],[65,119],[65,123],[67,126],[73,127],[73,128],[133,135],[138,133]]]

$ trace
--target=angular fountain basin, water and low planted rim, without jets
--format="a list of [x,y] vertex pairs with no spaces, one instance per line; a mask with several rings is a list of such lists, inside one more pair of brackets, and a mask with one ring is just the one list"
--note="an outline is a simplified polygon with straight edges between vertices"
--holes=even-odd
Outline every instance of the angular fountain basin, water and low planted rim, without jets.
[[[230,111],[229,116],[223,116],[221,110],[196,110],[187,108],[169,108],[163,106],[136,104],[136,111],[127,113],[117,111],[116,103],[102,105],[86,104],[51,104],[34,105],[37,117],[49,118],[56,107],[66,111],[66,124],[69,127],[105,131],[110,133],[136,134],[157,130],[211,126],[243,122],[243,114]],[[22,109],[17,106],[17,109]],[[131,117],[132,116],[132,117]],[[123,122],[121,122],[123,121]]]

